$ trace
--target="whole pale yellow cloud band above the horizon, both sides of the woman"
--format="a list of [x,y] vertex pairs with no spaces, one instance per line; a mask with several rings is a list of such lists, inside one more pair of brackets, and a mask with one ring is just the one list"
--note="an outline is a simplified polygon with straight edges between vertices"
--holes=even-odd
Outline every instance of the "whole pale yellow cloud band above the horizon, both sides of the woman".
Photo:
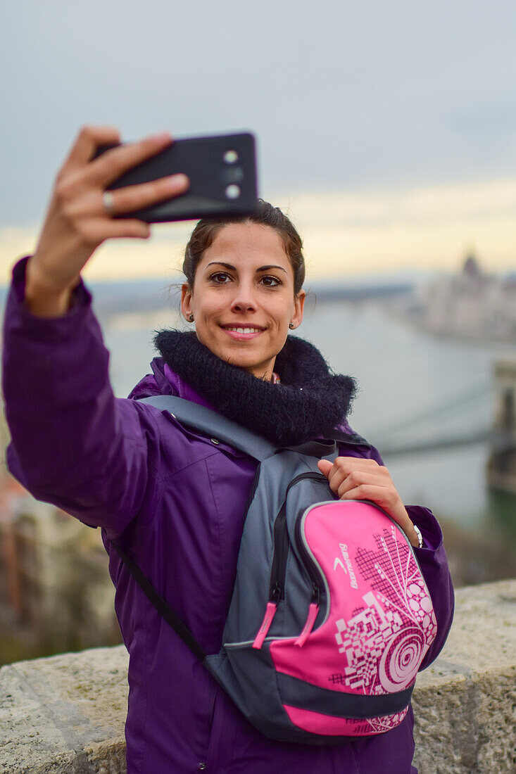
[[[397,269],[455,269],[473,246],[486,269],[516,268],[516,179],[397,190],[321,191],[267,197],[304,239],[309,276],[347,276]],[[194,223],[154,228],[150,241],[102,245],[86,279],[181,278],[184,245]],[[0,229],[0,270],[33,251],[37,229]]]

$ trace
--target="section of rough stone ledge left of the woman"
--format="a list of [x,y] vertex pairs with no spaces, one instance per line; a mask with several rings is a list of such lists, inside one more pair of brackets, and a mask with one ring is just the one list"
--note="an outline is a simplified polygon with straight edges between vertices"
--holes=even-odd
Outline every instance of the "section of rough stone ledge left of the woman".
[[128,663],[117,646],[2,667],[0,770],[125,772]]

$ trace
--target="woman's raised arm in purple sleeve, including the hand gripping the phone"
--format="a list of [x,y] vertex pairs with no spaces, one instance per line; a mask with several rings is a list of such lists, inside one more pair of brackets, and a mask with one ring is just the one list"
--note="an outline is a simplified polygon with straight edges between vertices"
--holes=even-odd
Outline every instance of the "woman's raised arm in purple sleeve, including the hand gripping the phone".
[[[109,537],[153,497],[149,475],[160,437],[147,406],[113,395],[108,351],[81,269],[107,238],[149,227],[105,212],[105,186],[170,142],[160,137],[89,160],[114,129],[84,129],[57,176],[35,254],[18,262],[5,309],[2,381],[12,442],[9,470],[36,498],[53,502]],[[184,177],[184,176],[181,176]],[[181,193],[158,180],[113,192],[115,212]]]

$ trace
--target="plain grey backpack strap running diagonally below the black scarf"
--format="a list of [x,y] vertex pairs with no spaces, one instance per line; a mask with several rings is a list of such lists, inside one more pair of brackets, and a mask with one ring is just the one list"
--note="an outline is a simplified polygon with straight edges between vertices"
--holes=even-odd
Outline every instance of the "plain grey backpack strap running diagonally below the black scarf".
[[254,457],[260,462],[266,460],[267,457],[272,457],[277,449],[270,441],[252,433],[246,427],[190,400],[174,395],[153,395],[149,398],[141,398],[140,402],[148,403],[161,411],[169,411],[174,419],[188,427],[201,430],[208,436],[222,440],[225,444],[249,454],[250,457]]

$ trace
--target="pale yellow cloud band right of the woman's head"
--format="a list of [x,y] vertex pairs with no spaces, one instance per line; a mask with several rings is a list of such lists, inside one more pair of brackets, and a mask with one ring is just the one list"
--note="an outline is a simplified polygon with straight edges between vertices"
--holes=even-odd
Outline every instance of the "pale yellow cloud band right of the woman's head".
[[454,269],[473,246],[487,270],[516,268],[516,179],[278,197],[311,273]]

